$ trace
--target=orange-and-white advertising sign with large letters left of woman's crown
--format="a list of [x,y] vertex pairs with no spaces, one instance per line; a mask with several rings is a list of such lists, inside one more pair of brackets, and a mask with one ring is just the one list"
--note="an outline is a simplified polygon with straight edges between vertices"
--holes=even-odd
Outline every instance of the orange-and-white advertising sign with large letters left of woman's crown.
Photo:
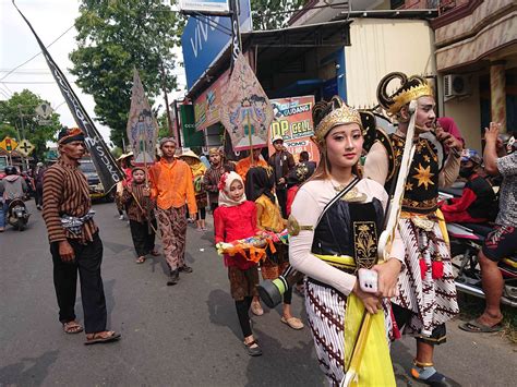
[[320,161],[317,146],[311,141],[311,136],[314,135],[312,123],[314,96],[278,98],[272,99],[270,102],[275,120],[269,126],[269,155],[275,152],[270,140],[281,135],[284,146],[294,156],[294,161],[298,162],[303,150],[309,153],[311,161]]

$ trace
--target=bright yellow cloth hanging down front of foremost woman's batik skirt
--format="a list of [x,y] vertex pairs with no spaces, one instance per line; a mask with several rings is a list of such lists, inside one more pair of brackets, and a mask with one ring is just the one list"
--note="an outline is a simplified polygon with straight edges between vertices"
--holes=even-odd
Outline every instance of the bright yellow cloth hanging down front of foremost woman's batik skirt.
[[345,370],[348,376],[357,375],[350,386],[395,386],[382,310],[374,315],[366,314],[353,351],[363,314],[362,301],[350,293],[345,315]]

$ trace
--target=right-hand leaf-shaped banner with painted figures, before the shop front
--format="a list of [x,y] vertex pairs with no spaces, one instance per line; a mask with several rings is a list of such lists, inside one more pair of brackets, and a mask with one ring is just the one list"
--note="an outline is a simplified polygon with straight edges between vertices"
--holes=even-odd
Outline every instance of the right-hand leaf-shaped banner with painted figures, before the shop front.
[[223,95],[220,121],[233,150],[267,146],[273,108],[248,60],[239,53]]

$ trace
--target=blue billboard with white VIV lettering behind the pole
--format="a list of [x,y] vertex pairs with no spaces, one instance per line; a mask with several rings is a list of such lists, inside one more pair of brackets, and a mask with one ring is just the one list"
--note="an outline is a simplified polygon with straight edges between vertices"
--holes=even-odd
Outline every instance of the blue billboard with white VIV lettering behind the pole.
[[[240,31],[241,33],[249,32],[252,29],[250,0],[239,0],[239,9]],[[189,17],[181,36],[188,89],[192,88],[217,57],[229,46],[230,39],[230,17]]]

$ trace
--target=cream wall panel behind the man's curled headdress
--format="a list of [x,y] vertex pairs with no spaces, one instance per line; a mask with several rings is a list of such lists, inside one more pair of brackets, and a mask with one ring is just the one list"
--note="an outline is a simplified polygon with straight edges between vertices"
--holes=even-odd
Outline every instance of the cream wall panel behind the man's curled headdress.
[[392,71],[436,73],[434,35],[425,21],[356,19],[345,47],[348,104],[377,105],[378,81]]

